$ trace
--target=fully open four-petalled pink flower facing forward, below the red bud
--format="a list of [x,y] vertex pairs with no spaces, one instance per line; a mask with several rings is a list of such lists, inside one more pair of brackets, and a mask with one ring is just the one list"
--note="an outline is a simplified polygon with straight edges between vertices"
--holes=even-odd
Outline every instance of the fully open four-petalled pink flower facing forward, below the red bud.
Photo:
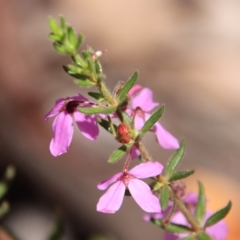
[[159,162],[146,162],[132,168],[128,172],[117,173],[106,181],[98,184],[98,189],[105,190],[114,183],[99,199],[97,211],[115,213],[122,205],[126,188],[129,189],[137,204],[146,212],[160,212],[158,198],[153,195],[150,187],[139,178],[159,175],[163,166]]

